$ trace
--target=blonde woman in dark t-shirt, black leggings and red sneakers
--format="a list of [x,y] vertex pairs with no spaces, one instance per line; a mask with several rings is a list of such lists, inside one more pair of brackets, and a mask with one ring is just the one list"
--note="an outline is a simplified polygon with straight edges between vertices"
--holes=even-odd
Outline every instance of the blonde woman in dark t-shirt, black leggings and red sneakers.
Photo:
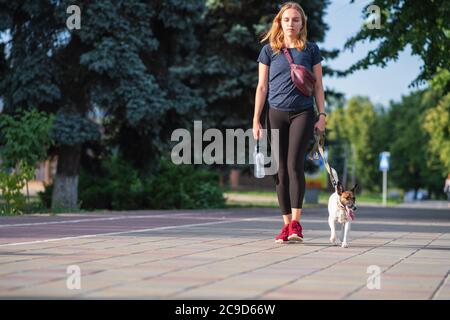
[[[279,130],[279,141],[271,141],[272,150],[278,143],[278,174],[276,191],[283,228],[275,238],[277,243],[303,241],[300,218],[305,194],[304,160],[314,130],[325,131],[325,107],[322,85],[322,57],[319,48],[306,40],[306,15],[299,4],[285,3],[273,20],[270,31],[261,42],[269,40],[258,57],[259,80],[255,96],[253,136],[262,137],[260,116],[268,92],[268,123]],[[290,66],[282,48],[288,48],[295,64],[314,73],[313,96],[319,110],[315,122],[313,96],[303,95],[290,77]]]

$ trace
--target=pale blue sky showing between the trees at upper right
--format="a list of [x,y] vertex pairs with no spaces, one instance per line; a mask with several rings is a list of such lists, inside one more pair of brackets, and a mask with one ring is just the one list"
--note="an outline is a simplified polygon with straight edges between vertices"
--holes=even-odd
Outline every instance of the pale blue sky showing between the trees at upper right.
[[[351,4],[350,0],[331,0],[324,18],[329,30],[325,41],[318,43],[319,48],[342,50],[346,40],[360,30],[364,17],[367,17],[363,14],[364,7],[371,2],[356,0]],[[382,24],[383,21],[381,21]],[[375,43],[358,43],[353,52],[343,51],[338,58],[324,60],[322,64],[344,70],[376,47]],[[364,95],[368,96],[373,103],[387,107],[390,100],[400,101],[402,95],[417,90],[408,88],[408,85],[419,75],[422,65],[421,59],[412,55],[410,48],[406,47],[399,53],[398,60],[390,61],[385,68],[374,66],[357,71],[345,78],[324,76],[323,83],[325,88],[343,92],[347,99],[354,95]]]

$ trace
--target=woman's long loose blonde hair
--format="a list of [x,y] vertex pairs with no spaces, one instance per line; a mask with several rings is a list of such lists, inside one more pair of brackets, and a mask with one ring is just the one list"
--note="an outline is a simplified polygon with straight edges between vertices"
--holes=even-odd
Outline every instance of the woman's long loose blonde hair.
[[269,39],[269,43],[274,54],[278,53],[284,46],[284,32],[281,27],[281,18],[283,16],[283,13],[288,9],[297,10],[300,13],[300,17],[302,19],[302,28],[300,29],[298,38],[294,42],[294,47],[297,48],[297,50],[301,51],[306,46],[306,14],[297,2],[286,2],[283,4],[280,11],[273,19],[272,27],[261,40],[261,42],[264,42]]

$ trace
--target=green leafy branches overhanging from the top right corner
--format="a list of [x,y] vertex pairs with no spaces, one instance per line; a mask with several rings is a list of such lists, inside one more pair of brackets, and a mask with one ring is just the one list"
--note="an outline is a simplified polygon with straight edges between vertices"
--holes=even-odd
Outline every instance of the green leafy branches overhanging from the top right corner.
[[[449,1],[375,0],[365,6],[364,16],[370,5],[380,8],[381,28],[369,29],[363,25],[355,36],[347,40],[345,48],[353,49],[357,43],[366,40],[379,42],[379,45],[349,67],[345,75],[371,65],[384,67],[388,61],[397,60],[398,54],[407,45],[424,62],[413,84],[432,79],[439,68],[450,68]],[[450,82],[447,82],[447,90],[449,85]]]

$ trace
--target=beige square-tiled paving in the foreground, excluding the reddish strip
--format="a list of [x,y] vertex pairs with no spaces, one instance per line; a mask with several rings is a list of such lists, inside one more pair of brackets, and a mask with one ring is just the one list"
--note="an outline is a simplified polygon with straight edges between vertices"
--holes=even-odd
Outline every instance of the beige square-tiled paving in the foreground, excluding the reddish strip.
[[[169,229],[2,247],[0,298],[450,299],[450,233],[355,223],[341,248],[329,244],[326,220],[317,230],[305,218],[304,243],[278,245],[279,220],[266,220],[218,225],[214,236],[197,226],[182,237]],[[359,220],[369,222],[377,226]],[[80,290],[67,288],[70,265],[80,267]],[[380,268],[380,289],[367,286],[371,266]]]

